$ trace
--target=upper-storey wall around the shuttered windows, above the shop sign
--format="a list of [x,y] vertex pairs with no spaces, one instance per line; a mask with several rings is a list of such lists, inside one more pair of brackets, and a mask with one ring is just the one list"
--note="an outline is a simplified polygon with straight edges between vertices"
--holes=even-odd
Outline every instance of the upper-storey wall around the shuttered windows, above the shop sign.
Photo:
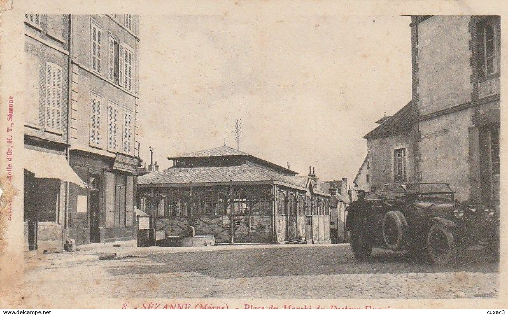
[[[116,19],[121,23],[123,15],[118,15]],[[134,18],[136,20],[136,18]],[[91,70],[90,66],[90,33],[91,23],[96,22],[102,27],[102,69],[100,73]],[[109,15],[76,15],[73,16],[73,96],[72,96],[72,131],[71,145],[73,149],[86,150],[107,156],[114,156],[116,151],[123,152],[122,149],[122,127],[123,118],[122,110],[127,108],[132,113],[132,139],[131,153],[135,156],[135,121],[138,98],[138,63],[139,44],[130,31],[120,26]],[[129,45],[134,50],[133,65],[133,89],[132,91],[120,86],[118,83],[108,79],[108,35],[112,34],[120,43]],[[100,144],[90,143],[90,96],[91,93],[97,94],[102,99],[101,103],[101,141]],[[108,102],[113,102],[120,109],[120,117],[118,117],[118,147],[117,150],[108,149]]]

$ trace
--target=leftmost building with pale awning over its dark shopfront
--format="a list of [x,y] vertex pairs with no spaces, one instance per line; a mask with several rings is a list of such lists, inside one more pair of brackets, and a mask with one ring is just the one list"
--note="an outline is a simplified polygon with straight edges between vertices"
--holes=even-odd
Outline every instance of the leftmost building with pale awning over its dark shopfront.
[[25,249],[61,250],[69,228],[69,15],[24,15]]

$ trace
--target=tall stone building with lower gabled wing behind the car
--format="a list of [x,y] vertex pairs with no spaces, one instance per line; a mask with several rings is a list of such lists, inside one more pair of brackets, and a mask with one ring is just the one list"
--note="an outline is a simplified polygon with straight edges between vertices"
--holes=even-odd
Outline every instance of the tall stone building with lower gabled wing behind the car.
[[500,17],[412,16],[412,100],[368,133],[371,191],[447,182],[499,202]]

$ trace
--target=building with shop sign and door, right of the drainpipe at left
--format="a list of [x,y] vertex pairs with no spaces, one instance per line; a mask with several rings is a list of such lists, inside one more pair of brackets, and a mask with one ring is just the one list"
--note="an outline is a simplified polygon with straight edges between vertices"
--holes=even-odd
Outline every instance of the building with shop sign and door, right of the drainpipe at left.
[[88,183],[71,185],[77,244],[134,239],[139,16],[73,15],[70,163]]

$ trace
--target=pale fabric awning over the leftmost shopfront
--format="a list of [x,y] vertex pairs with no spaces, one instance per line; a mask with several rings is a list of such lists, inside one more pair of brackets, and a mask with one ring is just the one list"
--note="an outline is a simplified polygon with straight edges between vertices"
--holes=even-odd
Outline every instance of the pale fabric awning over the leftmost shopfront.
[[87,184],[71,168],[65,155],[30,149],[25,149],[23,153],[24,168],[34,173],[35,177],[56,178],[75,183],[81,187],[87,187]]

